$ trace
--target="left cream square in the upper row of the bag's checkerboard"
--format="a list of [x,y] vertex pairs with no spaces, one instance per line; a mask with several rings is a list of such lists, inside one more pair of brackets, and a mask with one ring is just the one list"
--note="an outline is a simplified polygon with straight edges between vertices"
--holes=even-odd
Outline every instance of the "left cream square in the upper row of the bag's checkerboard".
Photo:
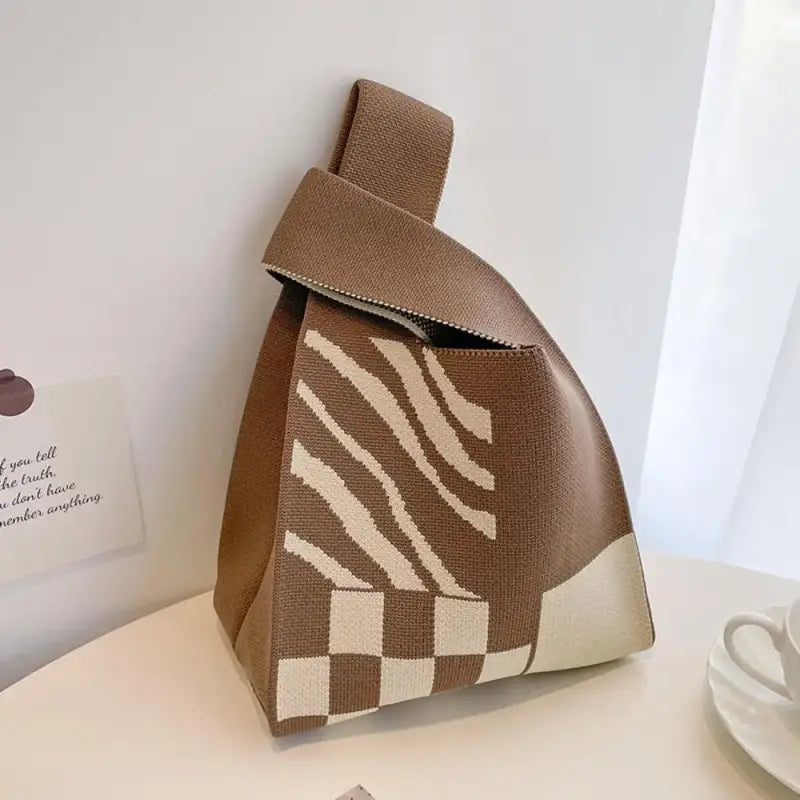
[[383,652],[383,592],[331,593],[328,650],[379,656]]

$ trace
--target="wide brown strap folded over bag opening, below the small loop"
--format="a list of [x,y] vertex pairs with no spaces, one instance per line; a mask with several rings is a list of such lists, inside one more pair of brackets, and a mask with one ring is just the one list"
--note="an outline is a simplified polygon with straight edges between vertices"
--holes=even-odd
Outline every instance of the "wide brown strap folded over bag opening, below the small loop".
[[301,181],[264,263],[279,279],[497,344],[549,341],[525,301],[483,259],[428,222],[320,169]]

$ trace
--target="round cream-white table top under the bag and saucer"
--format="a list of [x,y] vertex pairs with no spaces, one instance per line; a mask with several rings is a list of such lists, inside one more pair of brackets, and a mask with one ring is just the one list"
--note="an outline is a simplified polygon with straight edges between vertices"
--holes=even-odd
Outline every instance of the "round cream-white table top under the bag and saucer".
[[0,693],[0,797],[792,797],[718,723],[708,650],[800,584],[645,558],[656,645],[613,665],[484,684],[271,739],[203,594]]

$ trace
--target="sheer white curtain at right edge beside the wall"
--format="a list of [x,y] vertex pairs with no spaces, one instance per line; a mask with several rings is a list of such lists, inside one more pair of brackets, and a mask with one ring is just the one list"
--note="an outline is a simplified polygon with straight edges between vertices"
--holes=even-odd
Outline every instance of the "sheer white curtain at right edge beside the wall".
[[800,578],[800,3],[718,0],[637,522]]

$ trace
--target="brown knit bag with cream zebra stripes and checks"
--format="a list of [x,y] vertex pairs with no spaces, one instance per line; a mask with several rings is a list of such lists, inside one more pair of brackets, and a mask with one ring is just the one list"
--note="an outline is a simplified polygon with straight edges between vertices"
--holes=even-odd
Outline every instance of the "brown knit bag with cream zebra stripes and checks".
[[433,227],[449,117],[359,81],[267,248],[283,290],[214,604],[275,735],[649,647],[619,468],[514,289]]

